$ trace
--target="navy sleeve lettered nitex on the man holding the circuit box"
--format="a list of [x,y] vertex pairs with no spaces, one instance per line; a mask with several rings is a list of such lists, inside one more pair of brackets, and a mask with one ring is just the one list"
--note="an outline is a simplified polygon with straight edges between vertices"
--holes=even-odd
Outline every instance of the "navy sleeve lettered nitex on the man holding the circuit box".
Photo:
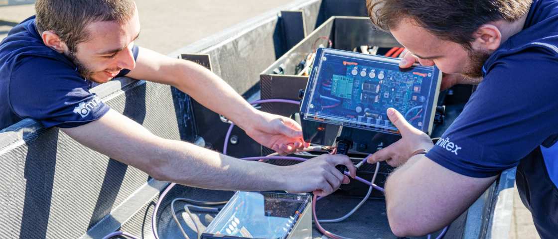
[[557,133],[558,59],[527,51],[492,67],[426,157],[459,174],[491,177]]

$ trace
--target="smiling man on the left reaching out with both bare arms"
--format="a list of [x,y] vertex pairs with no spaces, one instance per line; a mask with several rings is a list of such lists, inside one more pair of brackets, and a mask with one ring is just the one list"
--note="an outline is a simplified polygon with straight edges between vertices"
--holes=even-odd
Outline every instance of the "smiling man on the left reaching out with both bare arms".
[[135,46],[140,21],[132,0],[38,0],[35,8],[0,43],[0,128],[32,118],[153,178],[194,187],[326,195],[349,181],[335,165],[354,177],[342,155],[280,167],[153,135],[90,93],[93,82],[126,75],[172,85],[268,148],[304,147],[295,121],[254,109],[202,66]]

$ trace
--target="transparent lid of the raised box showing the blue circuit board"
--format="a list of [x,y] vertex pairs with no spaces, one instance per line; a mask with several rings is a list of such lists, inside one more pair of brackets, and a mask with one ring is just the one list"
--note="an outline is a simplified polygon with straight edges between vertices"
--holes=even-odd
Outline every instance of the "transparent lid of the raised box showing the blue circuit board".
[[301,113],[304,119],[398,134],[387,118],[395,108],[415,128],[428,132],[441,72],[400,59],[320,48],[316,52]]

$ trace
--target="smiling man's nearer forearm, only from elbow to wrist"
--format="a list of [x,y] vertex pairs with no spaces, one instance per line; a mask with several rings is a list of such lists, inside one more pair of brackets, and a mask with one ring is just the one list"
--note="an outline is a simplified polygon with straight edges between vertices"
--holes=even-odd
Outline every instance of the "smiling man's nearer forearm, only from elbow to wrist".
[[[281,167],[249,162],[190,143],[165,140],[153,160],[161,160],[160,179],[221,190],[286,190]],[[160,159],[156,159],[160,158]]]

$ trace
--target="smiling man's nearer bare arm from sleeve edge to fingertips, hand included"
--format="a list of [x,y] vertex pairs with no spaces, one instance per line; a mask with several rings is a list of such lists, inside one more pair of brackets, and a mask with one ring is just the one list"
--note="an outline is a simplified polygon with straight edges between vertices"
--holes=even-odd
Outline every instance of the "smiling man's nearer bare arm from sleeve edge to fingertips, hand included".
[[347,165],[355,174],[353,164],[342,155],[327,155],[288,167],[228,157],[190,143],[160,138],[114,110],[99,120],[61,130],[79,143],[153,178],[200,188],[318,191],[326,195],[341,182],[348,182],[335,165]]

